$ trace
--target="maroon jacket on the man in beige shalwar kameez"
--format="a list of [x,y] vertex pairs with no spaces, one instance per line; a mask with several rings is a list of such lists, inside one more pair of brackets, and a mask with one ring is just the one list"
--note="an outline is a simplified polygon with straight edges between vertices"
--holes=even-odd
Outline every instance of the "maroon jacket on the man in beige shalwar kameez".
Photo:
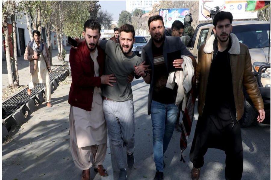
[[91,111],[94,87],[101,87],[100,76],[104,72],[104,53],[97,45],[97,61],[100,66],[99,77],[95,77],[94,63],[85,42],[78,45],[78,49],[70,49],[70,68],[72,83],[70,85],[69,104],[83,110]]

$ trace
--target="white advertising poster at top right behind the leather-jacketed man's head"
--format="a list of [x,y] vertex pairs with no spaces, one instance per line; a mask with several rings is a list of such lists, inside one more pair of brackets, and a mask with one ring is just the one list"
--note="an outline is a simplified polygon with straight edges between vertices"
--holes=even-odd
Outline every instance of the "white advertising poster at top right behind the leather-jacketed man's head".
[[[245,11],[247,7],[247,1],[224,1],[224,0],[215,0],[215,1],[198,1],[199,10],[198,10],[198,20],[206,21],[213,20],[210,18],[210,10],[216,12],[219,7],[219,11],[228,11],[232,13],[233,19],[251,19],[257,18],[258,12],[249,12]],[[210,18],[210,19],[209,19]]]

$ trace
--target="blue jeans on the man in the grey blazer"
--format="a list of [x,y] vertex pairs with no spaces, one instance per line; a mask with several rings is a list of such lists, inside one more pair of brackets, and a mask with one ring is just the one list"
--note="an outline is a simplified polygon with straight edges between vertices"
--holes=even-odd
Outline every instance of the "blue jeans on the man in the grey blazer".
[[175,104],[151,102],[152,143],[156,170],[163,172],[163,156],[171,140],[179,109]]

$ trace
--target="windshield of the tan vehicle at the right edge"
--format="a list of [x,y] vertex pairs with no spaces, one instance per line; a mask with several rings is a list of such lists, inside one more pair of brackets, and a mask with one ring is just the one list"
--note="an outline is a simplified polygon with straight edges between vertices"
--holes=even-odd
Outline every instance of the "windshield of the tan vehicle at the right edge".
[[251,48],[262,48],[269,46],[269,24],[249,24],[233,26],[232,33],[239,42]]

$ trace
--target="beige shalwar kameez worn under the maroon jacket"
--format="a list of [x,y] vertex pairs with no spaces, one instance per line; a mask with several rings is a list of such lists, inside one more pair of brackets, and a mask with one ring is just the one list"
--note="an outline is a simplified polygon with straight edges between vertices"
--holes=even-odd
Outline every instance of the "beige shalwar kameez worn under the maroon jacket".
[[[96,52],[96,53],[95,53]],[[92,57],[95,76],[99,75],[98,50]],[[91,55],[93,56],[91,53]],[[91,93],[91,92],[90,92]],[[107,149],[107,126],[104,119],[101,88],[95,87],[92,110],[70,106],[70,146],[73,161],[80,170],[98,168],[104,161]],[[91,161],[92,154],[92,161]]]

